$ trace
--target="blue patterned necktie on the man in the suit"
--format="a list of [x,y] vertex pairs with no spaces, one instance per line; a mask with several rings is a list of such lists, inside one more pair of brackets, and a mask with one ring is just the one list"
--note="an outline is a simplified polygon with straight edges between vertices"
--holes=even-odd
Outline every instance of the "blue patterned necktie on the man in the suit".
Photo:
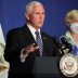
[[39,47],[39,53],[40,53],[40,56],[42,56],[42,51],[43,51],[43,43],[42,43],[42,39],[39,35],[39,31],[36,31],[36,41],[37,41],[37,44]]

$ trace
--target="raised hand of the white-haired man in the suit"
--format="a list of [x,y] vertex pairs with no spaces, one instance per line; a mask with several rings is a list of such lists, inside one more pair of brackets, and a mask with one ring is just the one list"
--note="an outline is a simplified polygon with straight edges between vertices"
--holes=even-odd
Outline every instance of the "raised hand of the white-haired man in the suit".
[[30,52],[35,52],[37,49],[39,49],[39,47],[36,47],[36,43],[31,43],[28,47],[24,48],[23,53],[30,53]]

